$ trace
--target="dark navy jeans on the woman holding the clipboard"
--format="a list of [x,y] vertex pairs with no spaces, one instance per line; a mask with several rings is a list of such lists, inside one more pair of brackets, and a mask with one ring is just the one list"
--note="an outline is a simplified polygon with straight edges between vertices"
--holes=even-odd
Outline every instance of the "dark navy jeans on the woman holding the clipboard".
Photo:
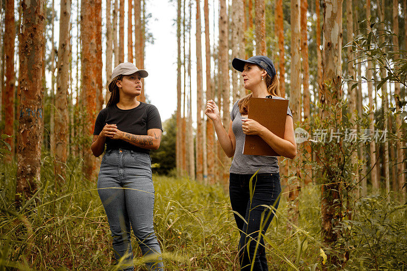
[[[250,270],[254,261],[253,270],[268,270],[266,249],[261,233],[265,234],[274,217],[274,213],[261,205],[278,207],[280,201],[281,185],[279,173],[258,173],[252,180],[252,199],[250,201],[249,182],[252,174],[234,174],[229,176],[229,195],[232,210],[245,218],[243,221],[234,214],[236,224],[240,231],[239,262],[241,270]],[[259,243],[257,245],[257,243]],[[254,255],[257,246],[256,255]],[[248,248],[247,248],[248,247]]]

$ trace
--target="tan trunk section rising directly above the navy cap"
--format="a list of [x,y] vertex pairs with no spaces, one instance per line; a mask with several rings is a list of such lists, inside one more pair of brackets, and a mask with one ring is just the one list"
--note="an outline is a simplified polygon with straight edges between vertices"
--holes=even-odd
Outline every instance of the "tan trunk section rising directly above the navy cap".
[[267,55],[266,48],[266,4],[265,0],[255,0],[256,54]]

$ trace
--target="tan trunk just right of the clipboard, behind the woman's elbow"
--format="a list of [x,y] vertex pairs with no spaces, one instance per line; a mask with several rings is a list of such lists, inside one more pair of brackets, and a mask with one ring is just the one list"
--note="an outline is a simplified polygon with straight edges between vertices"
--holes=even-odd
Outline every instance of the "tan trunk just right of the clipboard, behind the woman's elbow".
[[[291,75],[290,75],[290,103],[293,113],[294,125],[301,121],[301,55],[300,55],[300,0],[291,0],[290,6],[290,24],[291,24]],[[288,219],[291,223],[297,224],[299,216],[300,194],[300,162],[299,149],[297,157],[289,162],[289,175],[296,176],[288,185]],[[288,231],[293,230],[293,226],[288,224]]]

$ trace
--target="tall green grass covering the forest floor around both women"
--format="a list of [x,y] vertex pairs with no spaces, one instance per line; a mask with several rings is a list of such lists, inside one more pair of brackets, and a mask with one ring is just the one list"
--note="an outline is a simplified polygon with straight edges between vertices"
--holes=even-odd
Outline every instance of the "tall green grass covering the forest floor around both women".
[[[81,176],[80,159],[69,162],[69,174],[62,183],[55,183],[52,159],[44,157],[42,164],[42,185],[19,210],[15,210],[12,201],[3,193],[6,189],[12,190],[7,186],[14,183],[15,166],[4,165],[2,169],[7,182],[2,183],[3,191],[0,193],[0,270],[117,269],[112,265],[110,229],[96,190],[96,179],[87,180]],[[206,186],[187,178],[159,175],[154,175],[153,179],[156,192],[154,227],[165,269],[238,270],[239,232],[228,193],[222,186]],[[276,217],[264,236],[270,270],[316,270],[324,267],[319,233],[320,194],[317,186],[302,189],[300,221],[291,233],[287,233],[287,205],[282,195]],[[376,198],[373,207],[359,204],[357,221],[346,221],[338,228],[343,232],[343,243],[351,252],[346,265],[349,269],[367,270],[384,266],[379,263],[384,261],[385,257],[381,255],[386,249],[369,250],[369,245],[389,246],[396,242],[401,242],[398,248],[392,248],[386,255],[387,259],[394,257],[398,263],[388,263],[388,269],[406,267],[401,247],[407,247],[406,209],[403,206],[394,208],[386,220],[374,218],[372,211],[368,212],[369,208],[381,208],[382,213],[390,208],[379,199]],[[370,225],[370,235],[363,235],[365,225]],[[389,234],[389,228],[398,225],[395,228],[397,232],[392,230],[392,238],[382,236],[382,243],[376,244],[371,232],[382,225],[388,229],[386,234]],[[132,240],[134,265],[136,270],[144,270],[134,236]],[[398,256],[393,255],[395,251],[398,251]],[[378,263],[370,264],[373,261]]]

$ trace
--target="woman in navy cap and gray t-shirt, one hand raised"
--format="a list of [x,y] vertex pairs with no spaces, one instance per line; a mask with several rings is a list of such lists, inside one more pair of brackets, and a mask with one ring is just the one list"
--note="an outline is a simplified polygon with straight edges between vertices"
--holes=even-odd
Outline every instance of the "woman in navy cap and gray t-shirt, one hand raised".
[[[228,157],[233,157],[230,166],[229,195],[240,232],[241,269],[250,270],[251,265],[254,265],[253,270],[268,270],[264,240],[263,237],[260,236],[259,239],[258,237],[260,230],[262,234],[266,232],[278,207],[281,193],[278,160],[276,157],[243,155],[243,146],[245,135],[258,135],[279,155],[293,159],[297,153],[293,115],[288,108],[284,138],[279,138],[258,122],[247,118],[251,97],[283,99],[279,91],[276,70],[271,59],[263,55],[252,56],[247,60],[234,58],[232,66],[242,72],[244,87],[251,93],[233,105],[228,132],[223,128],[220,112],[214,101],[207,102],[205,114],[212,119],[223,151]],[[250,178],[256,172],[252,188],[249,188]],[[250,190],[253,191],[252,199]]]

